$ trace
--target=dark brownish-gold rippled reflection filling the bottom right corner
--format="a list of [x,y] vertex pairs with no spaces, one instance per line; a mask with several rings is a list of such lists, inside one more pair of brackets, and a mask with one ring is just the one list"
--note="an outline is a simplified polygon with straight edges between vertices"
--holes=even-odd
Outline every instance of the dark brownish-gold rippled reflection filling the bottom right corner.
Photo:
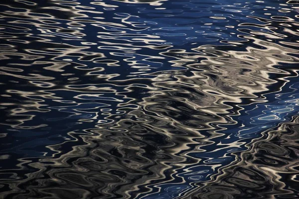
[[[263,196],[267,199],[276,199],[279,195],[279,198],[283,198],[286,195],[295,194],[292,189],[285,189],[286,181],[282,179],[282,175],[293,175],[294,178],[298,175],[298,159],[292,158],[292,153],[298,152],[298,131],[296,127],[298,126],[299,117],[294,116],[293,121],[283,123],[277,129],[271,130],[269,132],[263,132],[261,138],[253,140],[251,143],[248,143],[247,146],[250,150],[242,152],[240,158],[236,156],[239,161],[237,164],[232,164],[223,169],[223,173],[217,176],[213,181],[204,183],[204,186],[200,188],[198,193],[205,192],[201,195],[202,197],[207,197],[211,192],[217,192],[221,186],[231,186],[232,189],[238,189],[236,186],[232,186],[227,182],[230,182],[230,179],[242,179],[245,182],[253,182],[249,175],[245,175],[240,172],[233,172],[236,168],[247,170],[249,172],[256,173],[260,172],[265,179],[264,183],[268,183],[268,190],[264,190],[262,193],[259,193],[260,196]],[[269,148],[263,146],[269,145]],[[278,150],[278,151],[277,151]],[[261,155],[264,155],[261,157]],[[251,158],[248,158],[251,157]],[[265,161],[264,161],[265,159]],[[266,160],[275,160],[281,161],[283,164],[279,166],[275,163],[267,163]],[[257,161],[260,160],[260,161]],[[262,160],[262,161],[261,161]],[[257,181],[258,184],[262,187],[263,179]],[[254,183],[254,182],[253,182]],[[291,184],[291,186],[293,186]],[[215,189],[213,189],[213,187]],[[293,186],[294,187],[294,186]],[[197,194],[198,194],[197,193]],[[237,196],[237,192],[235,196]],[[188,199],[190,196],[186,196],[184,199]],[[233,197],[233,195],[231,196]]]

